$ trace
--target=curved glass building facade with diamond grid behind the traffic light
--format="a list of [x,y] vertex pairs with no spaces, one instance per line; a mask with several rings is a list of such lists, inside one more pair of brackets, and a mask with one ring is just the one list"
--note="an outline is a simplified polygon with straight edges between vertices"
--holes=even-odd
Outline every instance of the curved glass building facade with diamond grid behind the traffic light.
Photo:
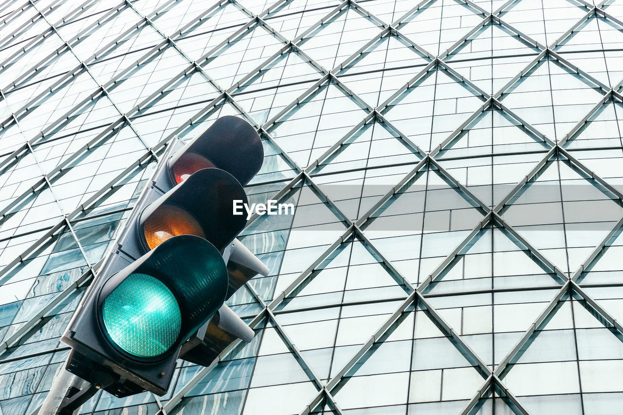
[[623,413],[623,0],[5,0],[0,62],[1,415],[223,115],[296,205],[239,238],[255,338],[81,414]]

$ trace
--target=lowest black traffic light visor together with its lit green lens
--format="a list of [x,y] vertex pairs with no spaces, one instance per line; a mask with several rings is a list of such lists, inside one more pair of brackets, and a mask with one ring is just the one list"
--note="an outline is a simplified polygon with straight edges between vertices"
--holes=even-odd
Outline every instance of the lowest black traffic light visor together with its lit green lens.
[[121,355],[166,358],[221,307],[227,279],[216,247],[198,236],[176,236],[105,282],[98,322]]

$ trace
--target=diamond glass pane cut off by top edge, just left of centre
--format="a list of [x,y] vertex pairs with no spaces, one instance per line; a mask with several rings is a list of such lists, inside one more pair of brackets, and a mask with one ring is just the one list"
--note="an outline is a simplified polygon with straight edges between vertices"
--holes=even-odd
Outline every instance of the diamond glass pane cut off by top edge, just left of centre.
[[292,41],[339,4],[338,0],[285,1],[266,14],[264,21],[283,37]]

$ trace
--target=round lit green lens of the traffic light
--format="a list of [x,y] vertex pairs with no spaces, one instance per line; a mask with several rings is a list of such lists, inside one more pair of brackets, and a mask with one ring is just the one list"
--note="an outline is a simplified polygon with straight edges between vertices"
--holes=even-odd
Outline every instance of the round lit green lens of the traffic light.
[[146,274],[130,274],[102,305],[112,341],[131,355],[148,358],[168,351],[179,337],[182,317],[171,290]]

